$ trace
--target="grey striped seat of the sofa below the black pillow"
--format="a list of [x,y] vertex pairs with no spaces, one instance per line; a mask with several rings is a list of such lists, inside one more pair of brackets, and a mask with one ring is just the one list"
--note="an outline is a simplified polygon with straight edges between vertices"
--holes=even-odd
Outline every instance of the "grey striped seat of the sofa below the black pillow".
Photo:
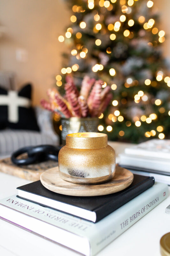
[[8,155],[26,146],[42,144],[58,145],[57,135],[50,136],[42,132],[6,129],[0,131],[0,155]]

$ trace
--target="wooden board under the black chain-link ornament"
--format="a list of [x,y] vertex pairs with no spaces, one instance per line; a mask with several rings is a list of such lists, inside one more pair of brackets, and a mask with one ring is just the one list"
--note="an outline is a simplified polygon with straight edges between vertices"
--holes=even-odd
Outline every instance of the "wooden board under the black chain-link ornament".
[[22,179],[37,181],[40,180],[41,173],[58,166],[58,162],[46,161],[39,164],[29,164],[17,166],[11,162],[11,158],[0,160],[0,172],[4,172]]

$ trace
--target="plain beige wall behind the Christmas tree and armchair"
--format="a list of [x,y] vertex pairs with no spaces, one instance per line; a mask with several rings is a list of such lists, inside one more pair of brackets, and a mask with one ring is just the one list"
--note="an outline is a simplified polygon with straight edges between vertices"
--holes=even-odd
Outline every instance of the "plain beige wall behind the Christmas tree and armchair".
[[[155,0],[161,12],[159,28],[170,36],[169,0]],[[18,87],[25,82],[34,85],[33,103],[39,104],[47,88],[55,84],[61,69],[64,43],[57,38],[70,23],[64,0],[0,0],[0,26],[6,33],[0,37],[0,70],[15,71]],[[170,57],[170,38],[163,44],[164,55]],[[28,53],[27,60],[16,60],[16,50]]]

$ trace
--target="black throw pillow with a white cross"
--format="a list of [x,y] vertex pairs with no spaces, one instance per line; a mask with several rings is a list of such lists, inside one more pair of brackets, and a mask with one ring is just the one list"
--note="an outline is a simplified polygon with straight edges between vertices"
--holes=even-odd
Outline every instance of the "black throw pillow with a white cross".
[[7,91],[0,87],[0,129],[40,131],[31,107],[31,84],[19,92]]

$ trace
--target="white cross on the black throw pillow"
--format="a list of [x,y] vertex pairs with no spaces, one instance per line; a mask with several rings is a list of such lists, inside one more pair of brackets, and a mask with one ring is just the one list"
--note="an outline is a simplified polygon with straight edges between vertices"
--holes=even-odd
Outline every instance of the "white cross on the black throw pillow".
[[8,121],[10,123],[18,123],[18,107],[29,108],[31,100],[18,96],[16,91],[8,91],[7,95],[0,95],[0,105],[8,106]]

